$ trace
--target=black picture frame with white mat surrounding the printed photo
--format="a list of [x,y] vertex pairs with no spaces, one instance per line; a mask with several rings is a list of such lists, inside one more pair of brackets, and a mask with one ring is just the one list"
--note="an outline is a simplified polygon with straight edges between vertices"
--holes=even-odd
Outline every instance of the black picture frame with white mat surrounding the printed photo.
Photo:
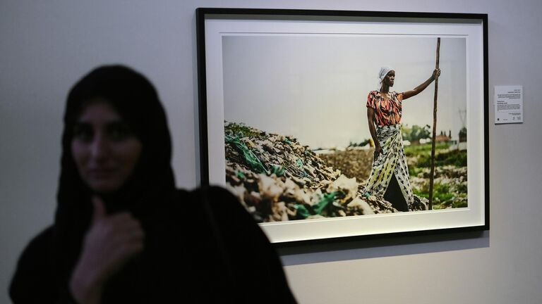
[[[454,44],[464,50],[464,59],[460,61],[461,66],[464,65],[464,70],[458,72],[459,75],[464,75],[462,76],[464,80],[459,77],[457,82],[464,82],[462,86],[466,92],[463,124],[464,127],[468,126],[469,131],[469,141],[465,143],[468,147],[466,148],[468,168],[465,178],[468,175],[466,185],[469,189],[466,193],[468,196],[466,207],[392,215],[265,222],[261,227],[270,241],[284,245],[489,229],[487,14],[198,8],[196,29],[200,184],[222,186],[227,186],[224,170],[224,108],[227,108],[224,105],[224,96],[227,94],[224,91],[230,89],[225,82],[231,80],[231,77],[224,73],[227,72],[225,70],[228,66],[234,65],[229,61],[224,62],[227,60],[224,58],[232,58],[231,52],[234,51],[230,53],[225,51],[226,43],[235,46],[234,42],[230,42],[231,39],[244,37],[239,41],[245,43],[246,40],[251,44],[254,37],[254,39],[262,37],[293,39],[289,41],[296,40],[296,37],[311,39],[325,36],[333,37],[334,41],[339,41],[337,39],[341,37],[369,37],[367,39],[378,37],[378,39],[397,39],[391,40],[394,44],[408,40],[409,45],[416,45],[418,41],[425,42],[423,39],[436,37],[455,39]],[[273,45],[273,41],[266,40],[262,48],[267,46],[269,49],[268,46]],[[450,63],[448,66],[453,67],[454,64],[457,65]],[[261,73],[262,70],[255,68],[254,72]],[[446,73],[450,75],[451,70],[454,68],[443,70],[442,75],[447,75]],[[359,96],[360,103],[363,103],[364,99],[364,96]],[[262,118],[267,114],[262,113]],[[265,132],[272,134],[273,130]]]

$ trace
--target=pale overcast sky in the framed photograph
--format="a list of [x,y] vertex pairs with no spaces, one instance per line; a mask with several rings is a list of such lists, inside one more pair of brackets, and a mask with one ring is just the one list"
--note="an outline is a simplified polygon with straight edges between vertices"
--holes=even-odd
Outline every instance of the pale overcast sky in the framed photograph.
[[[466,40],[442,38],[437,129],[457,138],[466,108]],[[436,38],[361,35],[226,36],[224,119],[296,137],[311,148],[371,137],[366,101],[383,65],[393,91],[413,89],[435,68]],[[432,125],[434,84],[403,103],[403,125]]]

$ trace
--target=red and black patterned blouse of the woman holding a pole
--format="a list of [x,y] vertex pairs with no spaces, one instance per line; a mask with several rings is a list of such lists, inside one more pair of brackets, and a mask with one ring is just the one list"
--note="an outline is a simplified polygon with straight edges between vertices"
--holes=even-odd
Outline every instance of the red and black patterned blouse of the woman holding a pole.
[[375,109],[376,125],[397,125],[403,113],[403,94],[390,92],[390,99],[384,99],[380,91],[371,91],[367,97],[367,108]]

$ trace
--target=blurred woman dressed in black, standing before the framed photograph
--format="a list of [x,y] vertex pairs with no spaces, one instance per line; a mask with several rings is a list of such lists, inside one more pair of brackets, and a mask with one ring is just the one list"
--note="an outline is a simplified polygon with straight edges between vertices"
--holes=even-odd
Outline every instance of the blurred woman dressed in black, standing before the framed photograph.
[[15,304],[296,302],[229,191],[176,189],[164,108],[130,68],[92,70],[68,94],[57,203],[20,256]]

